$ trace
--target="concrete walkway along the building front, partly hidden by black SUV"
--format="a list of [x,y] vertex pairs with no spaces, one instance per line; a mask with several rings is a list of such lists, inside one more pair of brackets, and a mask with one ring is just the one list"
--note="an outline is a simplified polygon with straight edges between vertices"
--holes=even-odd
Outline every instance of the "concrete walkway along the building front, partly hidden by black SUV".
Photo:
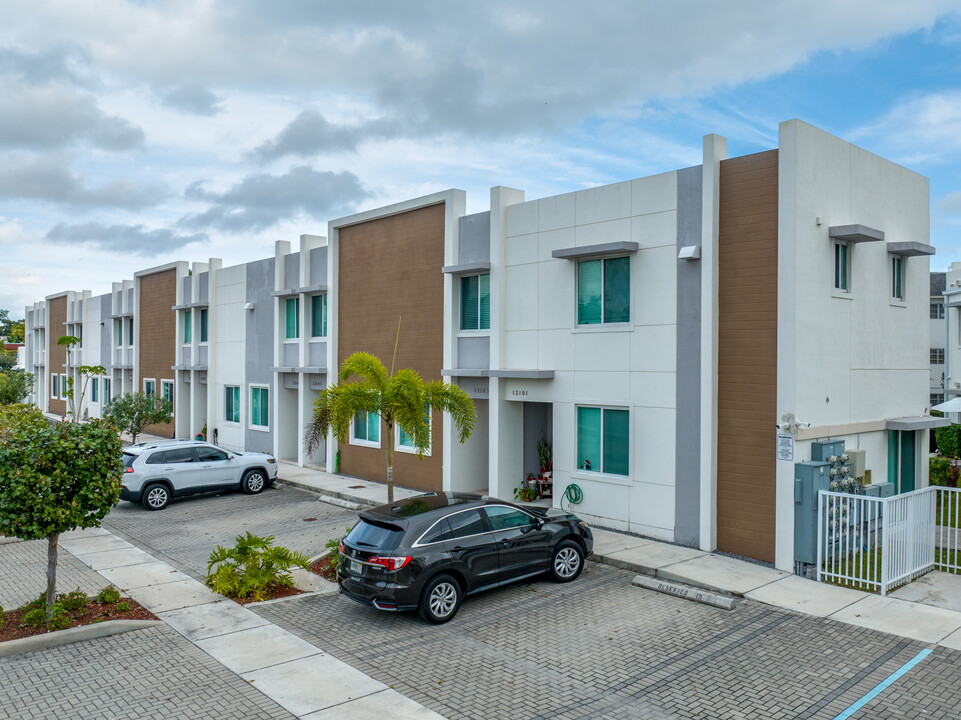
[[[381,483],[322,470],[280,463],[278,480],[357,509],[387,502]],[[394,487],[397,500],[417,494]],[[951,600],[961,592],[956,575],[932,572],[880,597],[695,548],[599,528],[593,532],[591,559],[606,565],[961,650],[961,603]]]

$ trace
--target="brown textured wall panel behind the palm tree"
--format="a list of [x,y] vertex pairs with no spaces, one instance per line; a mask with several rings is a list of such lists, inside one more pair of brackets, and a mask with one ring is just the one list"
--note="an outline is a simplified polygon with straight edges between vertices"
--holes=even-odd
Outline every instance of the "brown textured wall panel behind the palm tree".
[[[341,228],[338,267],[338,365],[354,352],[376,355],[390,369],[401,322],[395,368],[441,380],[444,360],[444,204]],[[441,490],[442,415],[432,417],[432,455],[395,453],[394,482]],[[343,444],[341,472],[384,482],[386,428],[381,447]]]

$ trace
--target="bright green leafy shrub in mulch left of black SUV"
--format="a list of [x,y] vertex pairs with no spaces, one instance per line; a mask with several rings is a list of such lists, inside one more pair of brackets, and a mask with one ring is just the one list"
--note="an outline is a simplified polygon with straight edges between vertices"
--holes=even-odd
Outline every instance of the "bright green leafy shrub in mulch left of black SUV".
[[304,553],[275,547],[272,535],[263,538],[248,531],[236,541],[229,550],[218,545],[207,563],[207,587],[221,595],[263,600],[271,585],[294,584],[289,572],[292,567],[310,569]]

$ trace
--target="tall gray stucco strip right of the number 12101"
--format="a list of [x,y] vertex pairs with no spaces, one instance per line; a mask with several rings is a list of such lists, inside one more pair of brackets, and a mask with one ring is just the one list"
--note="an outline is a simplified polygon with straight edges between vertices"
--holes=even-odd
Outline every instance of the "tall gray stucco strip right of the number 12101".
[[[677,173],[677,246],[701,244],[701,166]],[[701,538],[701,261],[677,261],[674,539]]]

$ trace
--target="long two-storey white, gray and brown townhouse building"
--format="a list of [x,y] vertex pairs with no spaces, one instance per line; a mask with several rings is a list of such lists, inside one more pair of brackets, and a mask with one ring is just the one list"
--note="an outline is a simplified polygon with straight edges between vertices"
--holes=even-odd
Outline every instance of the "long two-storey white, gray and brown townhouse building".
[[[397,431],[398,484],[510,498],[548,443],[555,505],[576,484],[598,525],[785,570],[796,464],[819,441],[863,452],[862,482],[926,484],[919,448],[943,421],[923,392],[925,178],[792,120],[765,152],[728,158],[709,135],[695,167],[531,200],[495,187],[465,208],[447,190],[252,263],[137,273],[100,298],[131,351],[110,356],[125,363],[111,392],[170,379],[173,436],[382,480],[376,416],[313,456],[302,441],[344,359],[371,352],[456,383],[477,412],[464,443],[434,413],[422,460]],[[34,400],[58,412],[66,304],[27,310]]]

